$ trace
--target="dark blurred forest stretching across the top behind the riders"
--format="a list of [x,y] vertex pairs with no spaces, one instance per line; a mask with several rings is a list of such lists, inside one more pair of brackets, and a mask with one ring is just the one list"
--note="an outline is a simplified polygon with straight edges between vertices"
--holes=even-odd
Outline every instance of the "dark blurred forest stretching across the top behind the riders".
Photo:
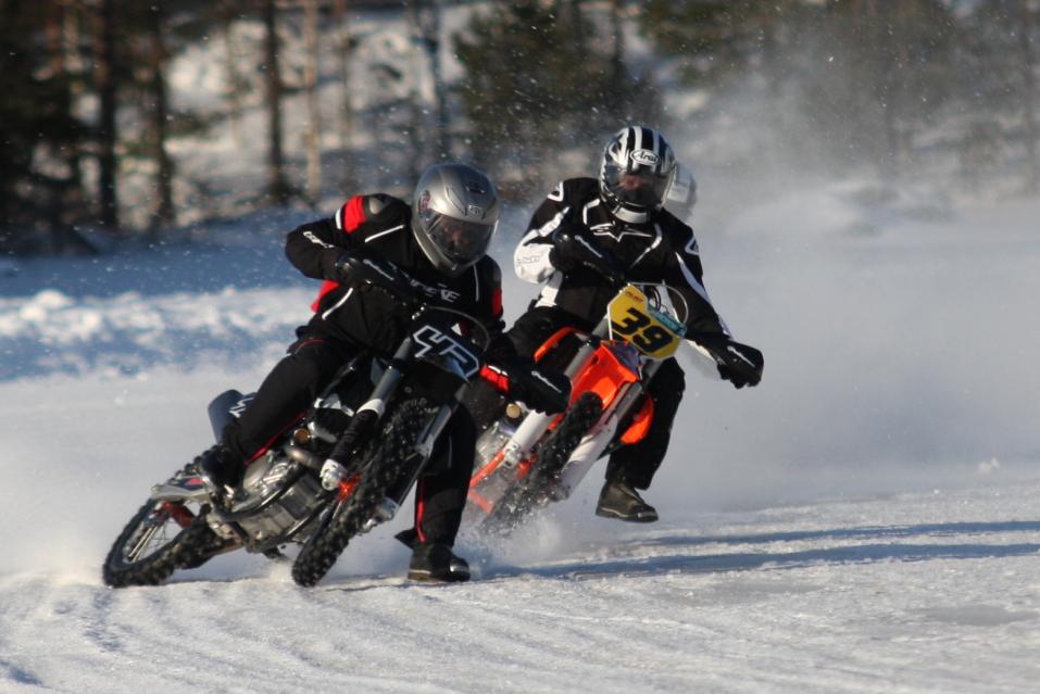
[[[1038,5],[0,0],[0,253],[91,252],[86,230],[155,239],[228,214],[181,163],[192,142],[246,127],[247,110],[262,115],[242,141],[263,171],[236,184],[233,213],[317,205],[369,171],[403,186],[440,157],[475,161],[521,197],[588,165],[590,142],[628,119],[724,130],[747,92],[759,136],[805,143],[806,168],[1032,194]],[[359,76],[351,67],[371,51],[354,34],[362,17],[397,23],[419,72]],[[246,26],[258,40],[212,66],[221,104],[175,108],[173,62],[216,37],[230,47]],[[404,87],[352,105],[352,92],[383,83]],[[676,94],[697,105],[676,108]],[[304,119],[287,116],[289,99]],[[301,147],[286,146],[289,130]]]

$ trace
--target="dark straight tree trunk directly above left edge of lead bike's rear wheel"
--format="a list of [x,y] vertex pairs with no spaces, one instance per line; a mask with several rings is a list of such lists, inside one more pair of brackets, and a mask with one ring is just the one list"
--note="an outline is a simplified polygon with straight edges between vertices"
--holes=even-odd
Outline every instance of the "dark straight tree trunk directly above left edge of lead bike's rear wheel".
[[95,78],[100,99],[98,118],[98,200],[101,207],[101,225],[109,229],[120,226],[118,200],[116,195],[115,130],[116,84],[115,84],[115,0],[101,0],[100,43],[95,61]]

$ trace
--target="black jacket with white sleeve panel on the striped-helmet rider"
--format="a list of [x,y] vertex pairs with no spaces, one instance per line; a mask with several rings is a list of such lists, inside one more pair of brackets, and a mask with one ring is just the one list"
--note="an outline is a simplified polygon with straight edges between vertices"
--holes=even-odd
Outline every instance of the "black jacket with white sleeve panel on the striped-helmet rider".
[[[587,230],[621,261],[629,281],[664,283],[679,293],[688,307],[688,329],[729,335],[704,288],[693,229],[664,209],[642,225],[615,219],[602,204],[594,178],[564,180],[531,216],[513,262],[522,279],[546,282],[532,306],[556,306],[591,327],[616,294],[602,275],[581,267],[564,273],[552,265],[552,234],[564,226]],[[681,315],[681,302],[673,303]]]

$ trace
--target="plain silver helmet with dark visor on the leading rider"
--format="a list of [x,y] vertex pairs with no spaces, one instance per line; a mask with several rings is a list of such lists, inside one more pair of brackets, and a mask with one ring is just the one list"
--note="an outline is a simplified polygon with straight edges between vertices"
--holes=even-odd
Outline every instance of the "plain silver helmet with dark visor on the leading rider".
[[452,277],[488,251],[499,222],[499,193],[465,164],[435,164],[412,195],[412,232],[430,263]]

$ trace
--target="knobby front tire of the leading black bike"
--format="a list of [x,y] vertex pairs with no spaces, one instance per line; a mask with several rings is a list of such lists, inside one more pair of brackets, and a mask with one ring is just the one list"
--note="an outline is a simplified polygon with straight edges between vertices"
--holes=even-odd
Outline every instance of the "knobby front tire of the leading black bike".
[[380,428],[379,442],[364,466],[354,492],[339,502],[330,517],[304,543],[292,565],[292,580],[310,588],[333,568],[350,540],[372,518],[386,490],[412,472],[403,462],[413,457],[419,437],[430,420],[431,406],[422,399],[402,403]]

